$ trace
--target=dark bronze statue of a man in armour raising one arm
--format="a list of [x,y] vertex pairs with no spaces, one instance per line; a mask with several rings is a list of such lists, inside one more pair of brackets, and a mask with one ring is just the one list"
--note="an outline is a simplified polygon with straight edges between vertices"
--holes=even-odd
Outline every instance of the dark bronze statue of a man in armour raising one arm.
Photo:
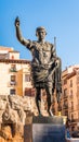
[[61,94],[61,59],[56,57],[55,47],[53,44],[44,42],[47,35],[45,28],[40,26],[36,29],[38,40],[25,39],[19,29],[19,19],[15,20],[16,37],[31,51],[31,72],[34,86],[36,87],[36,104],[40,114],[39,100],[41,88],[45,88],[48,100],[48,113],[50,114],[51,98],[56,88],[57,102]]

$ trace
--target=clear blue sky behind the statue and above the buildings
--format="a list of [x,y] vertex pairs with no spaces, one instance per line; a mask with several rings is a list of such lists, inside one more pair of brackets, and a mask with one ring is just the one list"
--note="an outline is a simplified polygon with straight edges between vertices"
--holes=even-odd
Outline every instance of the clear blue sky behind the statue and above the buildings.
[[0,0],[0,46],[13,47],[22,59],[30,52],[18,43],[14,21],[21,20],[23,36],[37,40],[36,27],[44,26],[45,40],[54,42],[63,70],[79,64],[79,0]]

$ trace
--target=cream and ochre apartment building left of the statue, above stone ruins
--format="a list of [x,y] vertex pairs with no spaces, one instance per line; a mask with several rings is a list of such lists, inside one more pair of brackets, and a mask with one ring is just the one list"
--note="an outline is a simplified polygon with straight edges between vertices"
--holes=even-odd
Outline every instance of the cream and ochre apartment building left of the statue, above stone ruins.
[[35,95],[30,61],[19,59],[19,51],[0,46],[0,95]]

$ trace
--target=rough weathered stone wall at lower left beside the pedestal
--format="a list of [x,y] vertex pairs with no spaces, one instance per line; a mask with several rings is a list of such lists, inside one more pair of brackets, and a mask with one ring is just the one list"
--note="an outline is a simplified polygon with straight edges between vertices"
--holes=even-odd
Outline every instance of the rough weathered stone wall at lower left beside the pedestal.
[[24,142],[24,125],[38,115],[35,97],[0,96],[0,142]]

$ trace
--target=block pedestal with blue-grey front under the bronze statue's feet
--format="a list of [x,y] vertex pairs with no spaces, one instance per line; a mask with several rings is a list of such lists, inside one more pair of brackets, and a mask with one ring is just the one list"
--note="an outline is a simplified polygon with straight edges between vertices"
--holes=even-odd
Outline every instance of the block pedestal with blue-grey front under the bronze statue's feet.
[[24,142],[65,142],[65,126],[62,117],[32,117],[25,125]]

